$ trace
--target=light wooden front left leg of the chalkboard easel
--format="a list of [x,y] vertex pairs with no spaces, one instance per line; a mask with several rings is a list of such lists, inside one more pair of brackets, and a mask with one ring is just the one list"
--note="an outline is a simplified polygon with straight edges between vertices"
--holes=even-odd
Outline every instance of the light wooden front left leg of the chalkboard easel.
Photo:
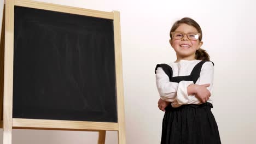
[[11,144],[13,128],[14,0],[5,1],[3,144]]

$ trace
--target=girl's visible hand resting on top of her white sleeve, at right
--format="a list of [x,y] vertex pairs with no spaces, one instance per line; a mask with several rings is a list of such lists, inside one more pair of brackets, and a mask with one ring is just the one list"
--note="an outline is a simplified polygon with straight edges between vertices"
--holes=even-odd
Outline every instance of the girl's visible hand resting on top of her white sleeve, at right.
[[195,96],[202,101],[202,103],[206,103],[207,100],[211,97],[210,91],[207,87],[210,86],[210,83],[205,85],[190,85],[188,86],[188,95],[195,94]]

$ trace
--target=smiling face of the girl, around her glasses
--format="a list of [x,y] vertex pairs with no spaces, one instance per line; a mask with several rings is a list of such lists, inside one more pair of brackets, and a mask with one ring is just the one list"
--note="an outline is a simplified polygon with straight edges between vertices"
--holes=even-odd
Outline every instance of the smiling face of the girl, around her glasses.
[[[185,23],[182,23],[175,32],[184,32],[184,33],[198,33],[196,28],[189,26]],[[182,39],[170,39],[170,44],[176,52],[177,58],[195,58],[195,52],[198,50],[202,41],[198,40],[189,40],[187,35],[184,35]]]

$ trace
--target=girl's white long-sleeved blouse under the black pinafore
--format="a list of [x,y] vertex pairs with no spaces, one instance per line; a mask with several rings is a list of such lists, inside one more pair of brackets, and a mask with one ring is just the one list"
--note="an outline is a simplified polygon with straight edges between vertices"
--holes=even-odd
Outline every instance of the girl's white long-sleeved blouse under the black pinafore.
[[[181,60],[179,62],[171,62],[169,65],[173,71],[174,76],[187,76],[190,75],[191,71],[195,67],[197,63],[201,62],[201,60]],[[206,83],[210,83],[210,86],[207,89],[211,93],[210,99],[207,101],[212,103],[212,96],[213,96],[213,74],[214,74],[214,67],[212,62],[205,62],[202,65],[200,77],[196,81],[195,84],[203,85]],[[195,97],[195,95],[188,95],[187,87],[189,85],[194,84],[193,81],[181,81],[177,82],[170,82],[169,77],[165,74],[164,70],[159,67],[156,70],[156,86],[158,88],[158,92],[160,98],[162,100],[172,102],[172,107],[179,107],[181,105],[186,104],[202,104],[199,99]]]

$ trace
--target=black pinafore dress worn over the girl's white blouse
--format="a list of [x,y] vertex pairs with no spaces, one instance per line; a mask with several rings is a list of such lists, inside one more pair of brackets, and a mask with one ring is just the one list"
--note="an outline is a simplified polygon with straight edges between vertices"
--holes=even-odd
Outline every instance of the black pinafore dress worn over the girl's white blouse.
[[[172,68],[167,64],[156,65],[155,70],[161,67],[171,82],[193,81],[199,79],[203,63],[195,65],[188,76],[172,76]],[[161,144],[219,144],[219,130],[211,112],[211,103],[200,105],[189,104],[173,108],[168,105],[162,120]]]

